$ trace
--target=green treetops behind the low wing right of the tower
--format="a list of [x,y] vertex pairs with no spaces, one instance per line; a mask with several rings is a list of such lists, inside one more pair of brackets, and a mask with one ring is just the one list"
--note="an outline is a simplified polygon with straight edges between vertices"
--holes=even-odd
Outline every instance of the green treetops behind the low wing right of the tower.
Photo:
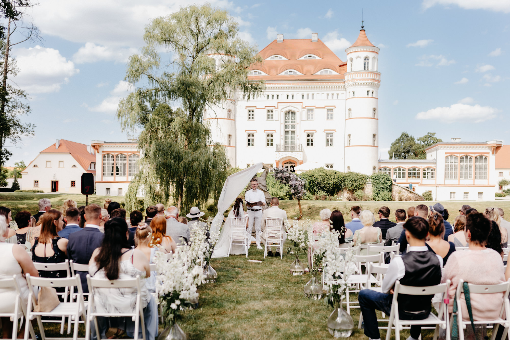
[[388,151],[390,159],[426,159],[425,149],[430,145],[442,142],[443,140],[435,137],[435,132],[428,132],[426,135],[414,138],[407,132],[402,134],[391,143]]

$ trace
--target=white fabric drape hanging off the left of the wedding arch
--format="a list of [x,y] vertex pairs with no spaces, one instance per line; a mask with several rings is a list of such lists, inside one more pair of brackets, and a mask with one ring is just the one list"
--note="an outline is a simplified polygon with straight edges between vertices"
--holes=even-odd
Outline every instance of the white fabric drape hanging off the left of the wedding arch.
[[211,224],[211,232],[216,231],[223,223],[223,213],[236,200],[250,180],[262,169],[262,163],[253,164],[238,173],[232,174],[226,178],[225,184],[221,189],[218,200],[218,213],[214,216]]

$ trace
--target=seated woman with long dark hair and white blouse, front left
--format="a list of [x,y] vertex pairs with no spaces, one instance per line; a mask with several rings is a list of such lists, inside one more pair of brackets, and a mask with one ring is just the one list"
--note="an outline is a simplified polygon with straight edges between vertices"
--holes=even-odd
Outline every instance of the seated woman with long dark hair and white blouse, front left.
[[[97,206],[99,208],[99,206]],[[140,307],[143,308],[147,339],[154,339],[158,331],[158,313],[154,298],[149,294],[143,277],[150,277],[149,261],[143,252],[129,248],[127,244],[127,224],[120,217],[112,218],[105,224],[105,237],[100,248],[94,250],[89,261],[89,274],[94,278],[117,280],[133,279],[138,275],[141,284]],[[97,298],[96,311],[101,313],[132,313],[137,300],[136,288],[96,288]],[[134,336],[134,321],[131,318],[123,318],[126,323],[126,333],[129,337]],[[106,337],[108,330],[108,318],[97,318],[100,338]],[[92,339],[99,338],[92,328]],[[141,337],[141,329],[139,331]]]

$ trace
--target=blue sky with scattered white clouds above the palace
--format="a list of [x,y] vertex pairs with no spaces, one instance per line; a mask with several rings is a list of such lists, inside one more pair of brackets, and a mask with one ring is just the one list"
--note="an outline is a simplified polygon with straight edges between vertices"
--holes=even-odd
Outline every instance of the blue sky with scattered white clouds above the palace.
[[[127,136],[115,119],[127,58],[143,46],[151,18],[195,2],[184,0],[45,0],[30,13],[43,43],[18,45],[16,83],[30,93],[33,138],[10,148],[6,165],[28,164],[55,139],[90,143]],[[380,47],[379,151],[407,131],[432,131],[445,141],[510,143],[508,82],[510,1],[225,1],[212,2],[240,23],[240,36],[259,50],[283,33],[318,32],[342,60],[358,37],[361,12]],[[8,145],[11,145],[8,143]]]

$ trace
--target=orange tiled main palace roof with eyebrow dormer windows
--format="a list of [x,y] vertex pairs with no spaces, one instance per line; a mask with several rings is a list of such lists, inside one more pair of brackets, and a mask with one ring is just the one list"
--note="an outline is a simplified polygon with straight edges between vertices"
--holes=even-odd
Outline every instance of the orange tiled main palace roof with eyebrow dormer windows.
[[[265,60],[272,55],[281,55],[288,60]],[[300,59],[307,54],[314,54],[321,59]],[[312,41],[312,39],[284,39],[283,42],[273,40],[262,51],[260,56],[264,62],[252,64],[250,69],[263,71],[264,76],[249,76],[253,80],[339,80],[344,79],[344,73],[347,71],[346,63],[337,57],[322,40]],[[342,66],[340,66],[342,65]],[[329,68],[338,73],[338,75],[316,75],[318,71]],[[278,76],[287,69],[295,69],[302,75]]]

